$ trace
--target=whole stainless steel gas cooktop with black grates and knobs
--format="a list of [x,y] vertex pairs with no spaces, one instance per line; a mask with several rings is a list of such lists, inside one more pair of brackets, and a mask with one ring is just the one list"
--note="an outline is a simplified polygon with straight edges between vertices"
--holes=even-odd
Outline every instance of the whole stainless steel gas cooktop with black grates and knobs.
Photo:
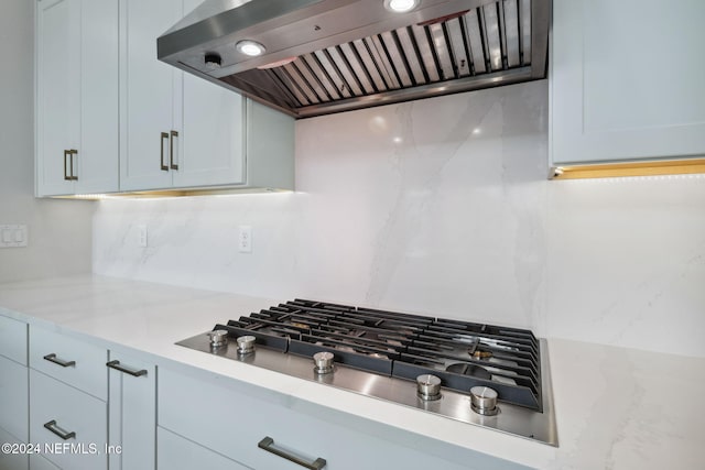
[[557,446],[530,330],[295,299],[177,345]]

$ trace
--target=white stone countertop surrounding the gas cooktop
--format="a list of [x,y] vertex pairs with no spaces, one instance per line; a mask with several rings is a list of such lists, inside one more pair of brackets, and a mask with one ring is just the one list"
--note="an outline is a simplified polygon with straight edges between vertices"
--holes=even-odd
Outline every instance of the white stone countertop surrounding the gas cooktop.
[[205,369],[519,464],[679,470],[705,464],[703,358],[549,338],[560,442],[554,448],[174,345],[285,300],[95,275],[0,284],[0,315]]

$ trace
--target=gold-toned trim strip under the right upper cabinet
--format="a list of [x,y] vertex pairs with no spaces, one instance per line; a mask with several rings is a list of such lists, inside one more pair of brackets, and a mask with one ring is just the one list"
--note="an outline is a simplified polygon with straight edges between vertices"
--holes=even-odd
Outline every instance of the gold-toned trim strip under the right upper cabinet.
[[553,166],[549,179],[614,178],[626,176],[691,175],[705,173],[705,159],[658,162]]

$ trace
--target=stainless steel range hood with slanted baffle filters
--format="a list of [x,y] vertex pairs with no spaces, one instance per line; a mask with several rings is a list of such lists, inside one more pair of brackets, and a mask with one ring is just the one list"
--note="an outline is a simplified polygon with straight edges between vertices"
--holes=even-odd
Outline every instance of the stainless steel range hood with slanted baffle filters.
[[[545,77],[551,0],[388,4],[206,0],[159,37],[158,55],[296,118]],[[265,52],[247,56],[241,41]]]

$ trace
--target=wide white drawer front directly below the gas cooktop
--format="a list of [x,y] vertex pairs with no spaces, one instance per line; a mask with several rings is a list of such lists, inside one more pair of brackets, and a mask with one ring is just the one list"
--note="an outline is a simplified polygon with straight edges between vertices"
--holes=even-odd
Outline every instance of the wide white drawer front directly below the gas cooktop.
[[[249,387],[230,379],[195,379],[160,369],[158,424],[225,457],[253,469],[301,470],[280,456],[261,449],[265,437],[278,450],[307,462],[326,460],[326,470],[394,468],[426,470],[474,468],[423,452],[423,449],[386,440],[383,433],[366,434],[253,396]],[[243,393],[245,392],[245,393]]]

